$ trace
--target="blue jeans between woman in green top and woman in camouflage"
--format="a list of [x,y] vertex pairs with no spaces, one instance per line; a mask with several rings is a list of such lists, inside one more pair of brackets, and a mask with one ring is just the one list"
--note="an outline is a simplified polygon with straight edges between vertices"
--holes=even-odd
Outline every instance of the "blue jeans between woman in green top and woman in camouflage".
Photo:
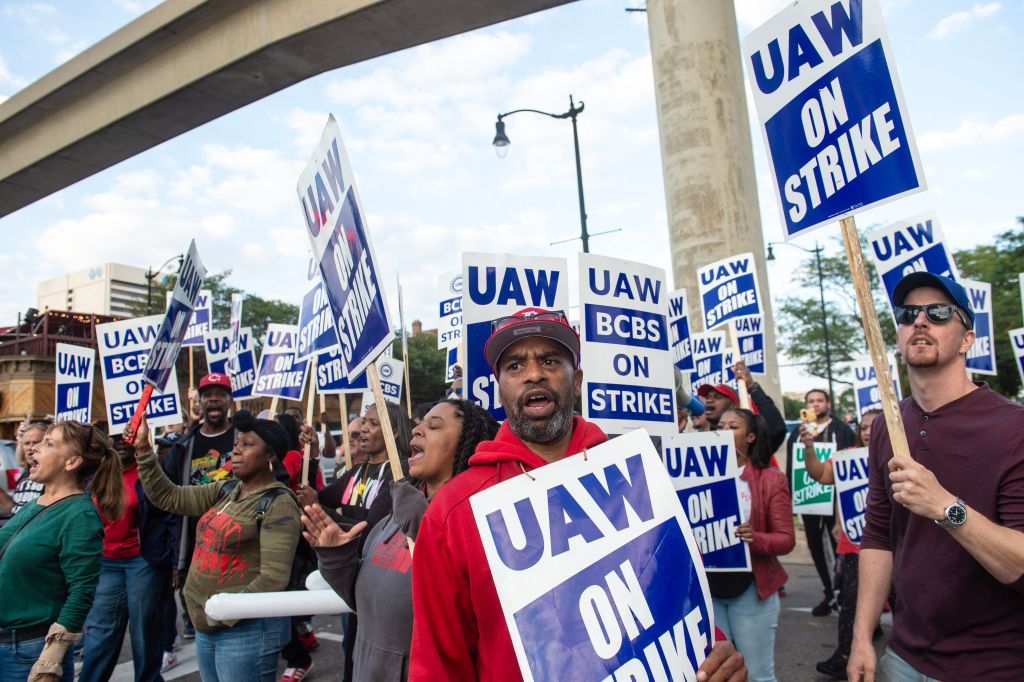
[[169,569],[154,568],[141,556],[100,559],[99,584],[85,619],[85,648],[79,682],[109,680],[118,665],[125,631],[131,637],[135,682],[161,680],[164,604]]

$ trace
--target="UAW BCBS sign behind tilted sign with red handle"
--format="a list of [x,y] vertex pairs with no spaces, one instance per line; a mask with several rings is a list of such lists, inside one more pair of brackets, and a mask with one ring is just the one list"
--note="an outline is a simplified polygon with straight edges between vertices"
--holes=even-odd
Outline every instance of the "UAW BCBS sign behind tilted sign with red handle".
[[[164,315],[150,315],[96,325],[96,347],[111,435],[124,432],[135,414],[145,384],[146,359],[163,322]],[[170,373],[163,390],[154,388],[145,418],[151,427],[181,423],[177,373]]]

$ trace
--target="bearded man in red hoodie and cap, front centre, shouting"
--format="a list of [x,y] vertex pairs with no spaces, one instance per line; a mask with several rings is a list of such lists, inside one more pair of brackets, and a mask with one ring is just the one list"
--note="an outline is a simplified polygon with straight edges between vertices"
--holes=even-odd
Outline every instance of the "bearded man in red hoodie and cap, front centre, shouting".
[[[469,499],[607,440],[572,416],[583,383],[580,337],[562,312],[525,308],[493,327],[483,352],[507,419],[423,518],[413,564],[414,681],[521,679]],[[742,657],[720,642],[697,679],[745,680]]]

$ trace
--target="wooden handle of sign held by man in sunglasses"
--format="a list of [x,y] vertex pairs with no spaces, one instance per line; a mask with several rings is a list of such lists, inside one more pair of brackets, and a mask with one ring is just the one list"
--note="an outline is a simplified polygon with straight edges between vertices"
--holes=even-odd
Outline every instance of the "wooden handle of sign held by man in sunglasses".
[[889,427],[889,441],[892,443],[893,455],[910,457],[910,445],[903,429],[903,415],[899,411],[892,373],[889,372],[889,358],[886,356],[886,343],[882,338],[882,326],[879,324],[879,313],[874,309],[874,298],[871,296],[871,287],[864,267],[864,253],[860,249],[857,223],[853,216],[850,216],[840,220],[840,225],[843,228],[843,244],[846,246],[846,257],[850,263],[850,274],[853,275],[853,288],[857,293],[860,318],[867,337],[867,350],[871,355],[874,377],[879,382],[879,393],[882,395],[882,413],[886,417],[886,426]]

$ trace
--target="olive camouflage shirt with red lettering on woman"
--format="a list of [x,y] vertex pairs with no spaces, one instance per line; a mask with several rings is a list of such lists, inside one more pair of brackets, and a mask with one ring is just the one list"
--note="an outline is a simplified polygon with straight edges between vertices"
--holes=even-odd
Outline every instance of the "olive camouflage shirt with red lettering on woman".
[[276,592],[288,587],[295,546],[301,535],[295,497],[278,496],[257,527],[256,504],[265,491],[286,487],[273,482],[240,500],[242,486],[220,499],[225,481],[206,485],[175,485],[164,474],[157,457],[138,457],[138,478],[153,504],[173,514],[197,516],[196,549],[184,595],[197,630],[210,632],[234,625],[207,616],[206,600],[218,593]]

